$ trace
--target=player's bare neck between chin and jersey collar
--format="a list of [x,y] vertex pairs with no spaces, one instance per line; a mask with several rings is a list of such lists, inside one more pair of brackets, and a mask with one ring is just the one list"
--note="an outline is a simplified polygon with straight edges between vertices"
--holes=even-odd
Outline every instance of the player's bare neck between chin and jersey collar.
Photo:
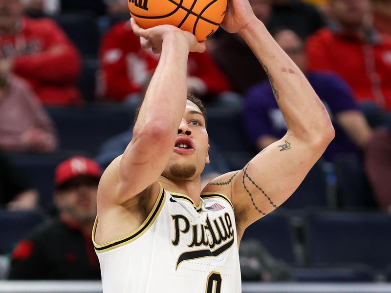
[[189,196],[195,202],[195,205],[199,204],[199,198],[201,194],[201,179],[194,180],[172,180],[166,177],[160,176],[159,182],[163,188],[167,191],[176,193],[182,193]]

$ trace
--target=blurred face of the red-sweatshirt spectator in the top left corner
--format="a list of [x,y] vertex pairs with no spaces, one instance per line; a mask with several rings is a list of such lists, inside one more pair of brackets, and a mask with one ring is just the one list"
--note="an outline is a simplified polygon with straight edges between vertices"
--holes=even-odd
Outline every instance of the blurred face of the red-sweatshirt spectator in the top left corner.
[[11,30],[22,16],[21,0],[0,0],[0,29]]

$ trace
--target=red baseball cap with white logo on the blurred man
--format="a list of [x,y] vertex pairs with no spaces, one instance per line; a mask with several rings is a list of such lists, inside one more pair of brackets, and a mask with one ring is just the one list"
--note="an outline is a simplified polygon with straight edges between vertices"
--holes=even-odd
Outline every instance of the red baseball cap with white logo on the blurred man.
[[56,167],[54,183],[56,187],[65,182],[80,177],[90,176],[99,179],[102,169],[95,161],[86,157],[72,157]]

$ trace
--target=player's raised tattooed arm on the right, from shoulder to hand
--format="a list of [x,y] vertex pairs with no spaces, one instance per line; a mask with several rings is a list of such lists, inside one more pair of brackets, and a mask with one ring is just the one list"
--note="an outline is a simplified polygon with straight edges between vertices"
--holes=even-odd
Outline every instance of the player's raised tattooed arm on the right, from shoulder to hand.
[[263,149],[242,170],[214,180],[209,187],[230,181],[224,188],[231,196],[240,235],[298,188],[334,138],[334,129],[304,74],[254,16],[248,1],[231,0],[228,15],[225,28],[230,32],[239,28],[259,59],[288,127],[282,139]]

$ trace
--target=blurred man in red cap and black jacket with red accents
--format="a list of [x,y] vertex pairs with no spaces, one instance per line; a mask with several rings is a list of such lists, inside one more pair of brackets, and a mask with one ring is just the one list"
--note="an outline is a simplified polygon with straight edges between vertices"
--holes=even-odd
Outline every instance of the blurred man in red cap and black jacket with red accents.
[[60,215],[18,243],[9,279],[100,279],[91,230],[101,173],[99,165],[85,157],[70,158],[56,168],[54,203]]

